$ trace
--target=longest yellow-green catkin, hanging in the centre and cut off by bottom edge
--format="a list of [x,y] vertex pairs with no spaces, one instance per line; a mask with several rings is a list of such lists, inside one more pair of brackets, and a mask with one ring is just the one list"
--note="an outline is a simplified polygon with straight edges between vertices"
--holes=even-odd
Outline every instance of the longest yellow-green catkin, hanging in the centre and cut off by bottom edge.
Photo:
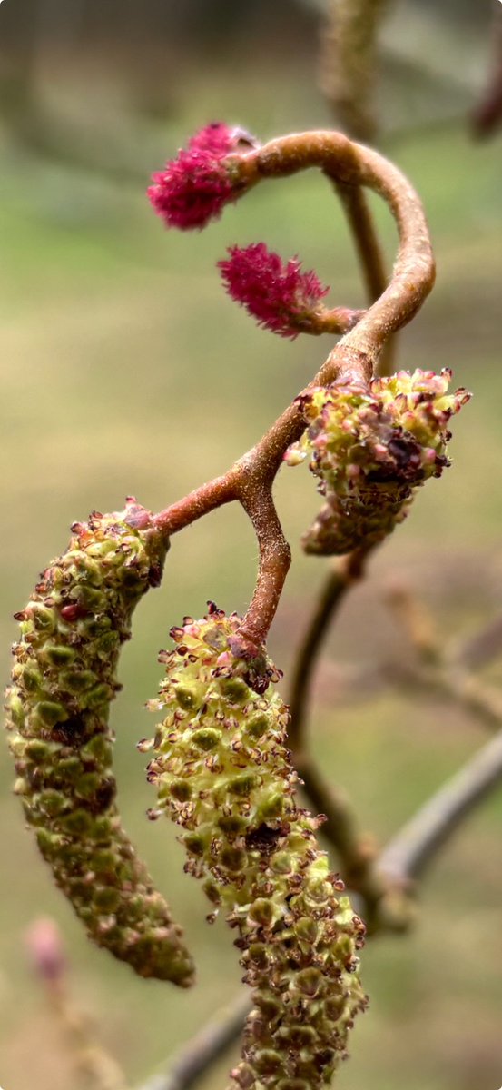
[[151,816],[183,827],[185,870],[237,933],[254,1009],[234,1087],[315,1090],[329,1085],[366,1005],[364,924],[319,850],[319,820],[296,806],[280,675],[265,652],[235,656],[238,626],[211,605],[172,629],[176,646],[161,654],[166,678],[150,703],[164,718],[139,747],[154,749]]

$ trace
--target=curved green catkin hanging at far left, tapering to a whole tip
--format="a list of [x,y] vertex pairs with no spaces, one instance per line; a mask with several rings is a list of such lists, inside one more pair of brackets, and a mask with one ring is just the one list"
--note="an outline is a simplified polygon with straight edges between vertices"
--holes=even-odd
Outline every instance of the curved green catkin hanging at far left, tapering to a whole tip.
[[148,511],[93,513],[42,572],[7,693],[10,749],[28,824],[89,936],[144,977],[185,986],[193,966],[120,823],[108,726],[135,605],[160,582],[166,544]]

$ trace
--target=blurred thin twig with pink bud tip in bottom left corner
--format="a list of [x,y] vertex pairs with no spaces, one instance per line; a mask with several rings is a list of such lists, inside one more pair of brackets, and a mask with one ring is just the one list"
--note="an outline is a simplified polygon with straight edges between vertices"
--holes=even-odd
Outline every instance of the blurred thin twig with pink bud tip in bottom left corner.
[[68,961],[59,929],[51,919],[35,920],[26,933],[33,968],[44,985],[48,1005],[61,1027],[76,1085],[85,1090],[127,1090],[115,1059],[97,1040],[93,1021],[73,1003]]

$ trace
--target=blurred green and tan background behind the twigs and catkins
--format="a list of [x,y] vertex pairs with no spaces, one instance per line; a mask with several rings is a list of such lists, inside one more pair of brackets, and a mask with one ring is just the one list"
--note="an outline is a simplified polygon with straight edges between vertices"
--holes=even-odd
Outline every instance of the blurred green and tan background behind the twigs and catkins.
[[[362,305],[351,241],[316,174],[261,186],[201,234],[167,234],[144,191],[151,170],[209,120],[261,137],[332,124],[316,85],[316,3],[5,0],[0,9],[0,307],[2,673],[37,572],[93,508],[126,494],[159,509],[224,470],[317,370],[330,348],[281,341],[224,295],[225,246],[266,240],[299,254]],[[397,4],[383,36],[381,148],[408,173],[429,216],[438,283],[400,338],[407,368],[451,366],[474,400],[455,422],[454,465],[419,495],[408,521],[345,603],[316,679],[313,746],[379,840],[483,741],[448,705],[390,688],[360,706],[340,668],[392,662],[402,638],[384,605],[396,579],[433,610],[444,639],[474,632],[501,605],[500,140],[476,145],[466,114],[488,63],[489,3]],[[395,238],[376,205],[389,261]],[[323,562],[297,542],[317,508],[305,469],[277,486],[294,565],[270,649],[284,668],[308,618]],[[68,1046],[27,965],[23,935],[50,915],[72,962],[75,1000],[132,1083],[167,1059],[238,993],[222,922],[205,923],[168,824],[150,825],[145,701],[157,651],[207,598],[246,607],[256,544],[238,509],[173,541],[164,583],[140,605],[113,708],[125,823],[186,928],[198,966],[192,993],[136,980],[90,947],[23,828],[1,754],[0,1083],[77,1090]],[[495,666],[488,671],[497,679]],[[479,808],[424,883],[417,927],[364,952],[371,1005],[359,1019],[340,1090],[498,1090],[502,1082],[502,792]],[[224,1085],[231,1057],[211,1071]]]

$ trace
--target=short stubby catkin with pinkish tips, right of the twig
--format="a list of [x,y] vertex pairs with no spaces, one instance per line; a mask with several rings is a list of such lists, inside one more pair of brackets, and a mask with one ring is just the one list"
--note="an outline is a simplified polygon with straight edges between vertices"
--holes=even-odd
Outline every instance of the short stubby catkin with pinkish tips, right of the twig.
[[400,371],[301,397],[306,431],[286,461],[309,458],[326,499],[303,537],[307,553],[378,544],[406,517],[414,489],[441,476],[450,465],[450,420],[470,397],[464,389],[449,395],[451,377],[448,368]]

